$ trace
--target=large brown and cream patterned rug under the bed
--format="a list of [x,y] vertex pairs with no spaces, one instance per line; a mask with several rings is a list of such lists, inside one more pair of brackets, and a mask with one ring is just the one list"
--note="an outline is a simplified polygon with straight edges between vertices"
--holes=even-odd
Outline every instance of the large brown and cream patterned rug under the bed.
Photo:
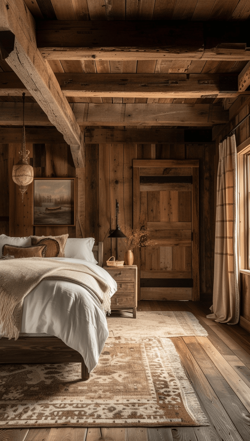
[[0,428],[209,425],[168,338],[109,337],[90,380],[80,371],[1,365]]

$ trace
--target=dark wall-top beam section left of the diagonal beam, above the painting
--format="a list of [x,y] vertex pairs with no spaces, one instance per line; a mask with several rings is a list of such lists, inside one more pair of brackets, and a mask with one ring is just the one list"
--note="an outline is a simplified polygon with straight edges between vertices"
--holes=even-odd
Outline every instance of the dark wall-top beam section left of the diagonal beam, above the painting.
[[[21,142],[22,128],[0,128],[0,143],[9,144],[15,142]],[[53,142],[65,142],[63,135],[56,130],[55,127],[46,127],[46,129],[25,129],[26,142],[32,142],[33,144],[45,144]]]

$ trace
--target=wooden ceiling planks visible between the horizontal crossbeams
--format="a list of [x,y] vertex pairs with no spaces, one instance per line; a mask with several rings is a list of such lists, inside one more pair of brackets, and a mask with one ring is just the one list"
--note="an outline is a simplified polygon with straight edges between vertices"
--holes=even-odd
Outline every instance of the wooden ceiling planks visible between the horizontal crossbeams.
[[[25,0],[26,6],[37,20],[246,20],[250,17],[249,0]],[[191,31],[191,29],[190,29]],[[247,61],[220,60],[48,60],[55,73],[101,74],[225,74],[240,73]],[[0,61],[0,71],[11,67]],[[70,103],[174,103],[210,104],[232,98],[204,97],[75,97],[67,96]],[[21,101],[21,96],[4,95],[0,101]],[[31,96],[27,102],[34,102]]]

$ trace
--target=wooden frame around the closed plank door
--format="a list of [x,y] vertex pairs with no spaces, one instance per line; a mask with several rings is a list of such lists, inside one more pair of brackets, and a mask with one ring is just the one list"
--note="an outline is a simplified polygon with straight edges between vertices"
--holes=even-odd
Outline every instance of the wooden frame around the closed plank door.
[[[199,160],[190,159],[134,159],[133,160],[133,228],[139,226],[140,168],[191,168],[191,226],[192,226],[192,301],[200,300],[199,274]],[[140,248],[134,250],[138,267],[138,300],[140,300]]]

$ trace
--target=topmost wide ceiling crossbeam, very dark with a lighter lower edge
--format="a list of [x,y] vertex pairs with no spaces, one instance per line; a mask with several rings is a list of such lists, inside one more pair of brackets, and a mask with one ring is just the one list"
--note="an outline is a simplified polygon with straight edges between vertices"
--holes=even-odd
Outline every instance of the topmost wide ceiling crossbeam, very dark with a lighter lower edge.
[[60,60],[250,60],[249,21],[67,21],[37,23],[37,47]]

